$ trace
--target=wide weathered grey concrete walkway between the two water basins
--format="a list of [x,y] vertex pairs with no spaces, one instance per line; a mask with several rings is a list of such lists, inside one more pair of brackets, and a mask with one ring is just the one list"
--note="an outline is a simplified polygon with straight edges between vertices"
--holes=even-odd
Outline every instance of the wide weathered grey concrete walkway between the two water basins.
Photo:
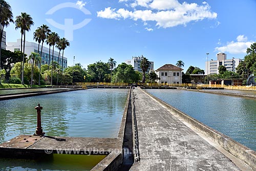
[[140,162],[130,170],[240,170],[143,91],[133,92]]

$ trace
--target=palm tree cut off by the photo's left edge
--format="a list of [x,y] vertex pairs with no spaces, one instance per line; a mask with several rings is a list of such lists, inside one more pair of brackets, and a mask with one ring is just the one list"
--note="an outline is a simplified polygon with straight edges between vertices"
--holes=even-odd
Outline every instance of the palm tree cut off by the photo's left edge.
[[[1,49],[2,49],[2,38],[3,38],[3,32],[4,27],[7,27],[10,22],[13,23],[13,15],[11,11],[11,6],[4,0],[0,0],[0,71],[1,71]],[[1,79],[0,79],[1,84]]]

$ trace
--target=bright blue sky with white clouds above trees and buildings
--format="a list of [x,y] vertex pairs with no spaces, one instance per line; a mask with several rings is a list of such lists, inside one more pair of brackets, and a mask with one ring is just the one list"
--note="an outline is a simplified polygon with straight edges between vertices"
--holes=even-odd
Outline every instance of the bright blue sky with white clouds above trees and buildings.
[[[75,63],[87,68],[99,60],[108,62],[110,57],[119,64],[132,56],[143,55],[154,61],[155,70],[166,63],[175,65],[178,60],[185,63],[185,71],[189,66],[205,69],[206,53],[209,60],[215,60],[219,52],[227,53],[228,59],[243,59],[246,48],[256,41],[255,0],[7,2],[14,19],[21,12],[33,18],[34,26],[26,34],[26,40],[34,41],[33,32],[42,24],[47,24],[60,37],[68,36],[70,47],[64,52],[68,66],[73,65],[73,56]],[[88,19],[87,25],[82,23]],[[20,38],[14,24],[5,31],[7,42]]]

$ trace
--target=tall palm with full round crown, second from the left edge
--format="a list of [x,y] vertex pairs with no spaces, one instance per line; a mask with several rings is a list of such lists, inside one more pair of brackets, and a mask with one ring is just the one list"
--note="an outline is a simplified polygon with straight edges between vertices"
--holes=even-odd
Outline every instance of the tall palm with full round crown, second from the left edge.
[[[22,12],[21,15],[16,16],[15,20],[15,29],[20,28],[20,33],[24,35],[24,44],[23,44],[23,57],[22,57],[22,84],[24,84],[24,55],[25,55],[25,42],[26,42],[26,31],[29,31],[31,26],[34,25],[32,17],[26,12]],[[22,45],[20,45],[22,46]]]

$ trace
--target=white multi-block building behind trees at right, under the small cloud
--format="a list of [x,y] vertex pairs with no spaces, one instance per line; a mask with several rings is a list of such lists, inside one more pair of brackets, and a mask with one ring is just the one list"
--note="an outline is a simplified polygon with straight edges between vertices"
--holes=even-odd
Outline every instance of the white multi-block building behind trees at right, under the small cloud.
[[205,74],[219,74],[219,67],[226,67],[227,71],[236,72],[236,68],[242,59],[227,59],[225,53],[218,53],[217,60],[210,60],[205,62]]

